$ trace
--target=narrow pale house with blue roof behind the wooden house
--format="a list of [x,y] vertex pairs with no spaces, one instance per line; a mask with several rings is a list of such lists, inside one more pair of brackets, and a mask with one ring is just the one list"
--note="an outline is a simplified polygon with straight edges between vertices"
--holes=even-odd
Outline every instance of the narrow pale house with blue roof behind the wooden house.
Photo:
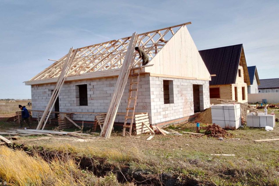
[[260,85],[260,79],[256,66],[247,67],[250,78],[250,86],[247,86],[248,94],[257,94],[258,93],[258,85]]

